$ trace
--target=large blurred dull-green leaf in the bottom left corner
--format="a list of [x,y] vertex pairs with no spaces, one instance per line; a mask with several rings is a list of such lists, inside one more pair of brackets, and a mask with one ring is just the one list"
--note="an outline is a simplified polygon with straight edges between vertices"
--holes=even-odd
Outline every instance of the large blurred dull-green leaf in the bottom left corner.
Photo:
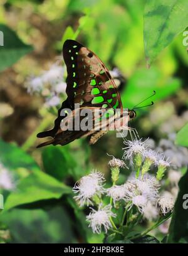
[[11,233],[11,243],[74,243],[71,216],[62,206],[23,210],[14,208],[0,215]]

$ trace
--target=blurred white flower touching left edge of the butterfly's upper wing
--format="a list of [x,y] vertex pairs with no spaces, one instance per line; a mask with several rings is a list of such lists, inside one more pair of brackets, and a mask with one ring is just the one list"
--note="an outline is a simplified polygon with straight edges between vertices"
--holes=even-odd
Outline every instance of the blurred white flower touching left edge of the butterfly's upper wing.
[[55,85],[63,80],[63,73],[65,71],[64,67],[57,64],[51,66],[50,70],[46,71],[42,75],[44,83],[50,83],[50,85]]

